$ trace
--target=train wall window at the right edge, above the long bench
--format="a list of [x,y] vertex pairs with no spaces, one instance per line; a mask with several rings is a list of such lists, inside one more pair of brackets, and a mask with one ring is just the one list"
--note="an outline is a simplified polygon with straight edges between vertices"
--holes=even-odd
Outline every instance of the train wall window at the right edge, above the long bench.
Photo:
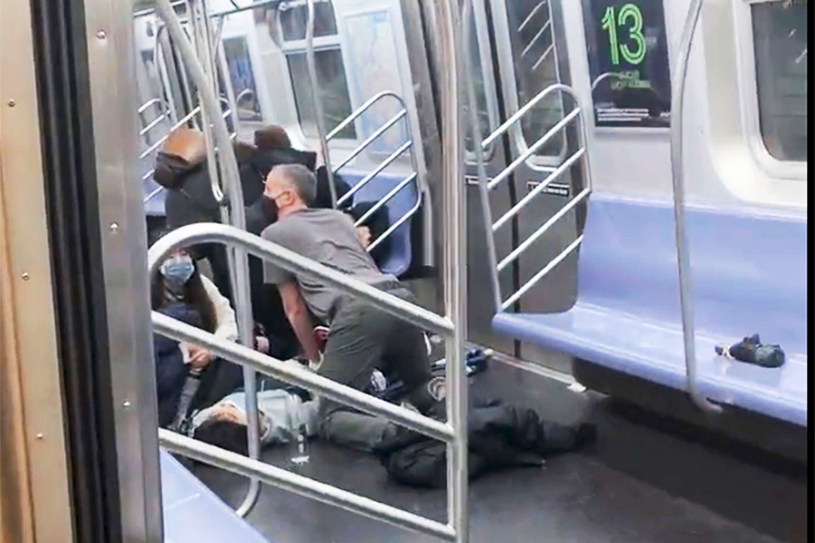
[[807,5],[751,6],[761,138],[778,160],[807,160]]

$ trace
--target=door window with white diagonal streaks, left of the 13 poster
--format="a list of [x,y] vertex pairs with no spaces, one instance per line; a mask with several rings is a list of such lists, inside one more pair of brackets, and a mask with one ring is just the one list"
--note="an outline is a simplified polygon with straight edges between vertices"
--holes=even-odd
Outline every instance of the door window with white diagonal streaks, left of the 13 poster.
[[[506,2],[506,11],[518,103],[523,106],[541,90],[559,82],[554,21],[547,0],[511,0]],[[524,139],[531,144],[562,118],[562,98],[559,93],[553,93],[535,106],[534,115],[523,116]],[[538,154],[558,155],[562,138],[560,131]]]

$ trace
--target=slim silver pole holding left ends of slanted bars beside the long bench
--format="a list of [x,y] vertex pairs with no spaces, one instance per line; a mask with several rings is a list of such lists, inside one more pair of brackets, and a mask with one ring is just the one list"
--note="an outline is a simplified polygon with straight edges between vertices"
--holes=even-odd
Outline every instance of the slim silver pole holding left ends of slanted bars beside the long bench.
[[[481,214],[484,218],[484,235],[487,236],[487,264],[490,266],[490,279],[492,282],[492,297],[496,304],[496,313],[501,310],[501,291],[498,282],[498,264],[496,262],[496,239],[492,234],[492,211],[490,209],[490,190],[487,188],[487,169],[484,167],[484,148],[481,145],[481,122],[478,120],[478,102],[475,99],[475,80],[473,77],[473,62],[470,49],[470,26],[473,20],[475,0],[465,0],[464,11],[461,16],[461,62],[465,68],[465,81],[467,81],[467,104],[469,107],[469,121],[473,132],[475,147],[475,160],[478,167],[478,199],[481,201]],[[480,50],[478,51],[480,55]],[[456,323],[457,324],[457,323]]]

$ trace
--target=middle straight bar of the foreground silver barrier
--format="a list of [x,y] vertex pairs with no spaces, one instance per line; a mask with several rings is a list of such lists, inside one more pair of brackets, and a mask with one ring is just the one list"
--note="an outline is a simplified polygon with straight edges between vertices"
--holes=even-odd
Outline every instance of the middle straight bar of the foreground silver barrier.
[[452,427],[447,423],[440,423],[438,420],[425,417],[411,409],[405,409],[390,401],[381,400],[376,396],[350,388],[348,385],[337,383],[306,370],[299,364],[280,361],[245,345],[218,338],[211,332],[190,326],[157,311],[152,312],[152,323],[153,330],[157,333],[177,341],[200,345],[224,360],[249,367],[275,379],[284,380],[286,383],[307,388],[319,396],[339,401],[366,413],[389,418],[394,423],[420,431],[434,439],[445,442],[453,439]]

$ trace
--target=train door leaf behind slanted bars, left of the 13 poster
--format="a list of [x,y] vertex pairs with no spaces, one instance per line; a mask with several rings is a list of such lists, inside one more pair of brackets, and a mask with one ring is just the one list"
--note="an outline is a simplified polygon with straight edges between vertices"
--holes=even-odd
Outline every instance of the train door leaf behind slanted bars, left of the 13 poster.
[[[549,85],[570,84],[566,39],[562,24],[561,0],[490,0],[491,22],[496,42],[496,59],[502,91],[502,115],[508,119]],[[527,151],[571,111],[575,104],[567,95],[554,92],[537,103],[510,129],[507,162]],[[553,135],[513,173],[516,199],[530,190],[563,164],[577,144],[574,123],[569,129]],[[569,169],[539,195],[529,200],[518,212],[516,243],[522,242],[559,211],[582,188]],[[575,172],[574,176],[570,176]],[[495,211],[494,211],[495,212]],[[496,215],[495,217],[500,217]],[[513,228],[509,221],[504,229]],[[538,239],[518,258],[517,290],[544,267],[577,236],[575,209]],[[496,247],[499,254],[508,250]],[[571,253],[552,272],[529,291],[516,309],[525,312],[551,313],[569,309],[575,303],[577,252]],[[571,357],[543,351],[523,343],[520,356],[566,372],[571,371]]]

